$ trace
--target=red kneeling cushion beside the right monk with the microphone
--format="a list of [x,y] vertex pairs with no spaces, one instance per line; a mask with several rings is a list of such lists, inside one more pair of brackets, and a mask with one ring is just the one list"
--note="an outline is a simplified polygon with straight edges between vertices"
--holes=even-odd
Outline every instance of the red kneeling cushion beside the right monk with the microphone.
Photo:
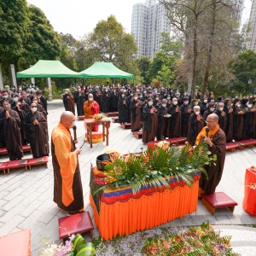
[[215,192],[210,195],[201,195],[212,207],[236,207],[237,202],[224,192]]

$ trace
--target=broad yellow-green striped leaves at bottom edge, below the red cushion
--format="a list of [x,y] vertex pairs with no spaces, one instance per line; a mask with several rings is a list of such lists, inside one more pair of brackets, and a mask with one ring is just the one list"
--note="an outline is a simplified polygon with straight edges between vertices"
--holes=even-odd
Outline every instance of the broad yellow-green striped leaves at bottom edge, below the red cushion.
[[95,246],[92,242],[86,242],[80,234],[76,235],[73,240],[73,252],[67,256],[92,256],[95,255]]

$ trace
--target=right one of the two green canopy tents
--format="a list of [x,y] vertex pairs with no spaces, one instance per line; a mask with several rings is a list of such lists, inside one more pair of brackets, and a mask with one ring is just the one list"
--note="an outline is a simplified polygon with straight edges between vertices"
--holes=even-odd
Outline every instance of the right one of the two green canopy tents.
[[92,66],[80,72],[83,79],[134,79],[134,75],[115,67],[112,62],[95,62]]

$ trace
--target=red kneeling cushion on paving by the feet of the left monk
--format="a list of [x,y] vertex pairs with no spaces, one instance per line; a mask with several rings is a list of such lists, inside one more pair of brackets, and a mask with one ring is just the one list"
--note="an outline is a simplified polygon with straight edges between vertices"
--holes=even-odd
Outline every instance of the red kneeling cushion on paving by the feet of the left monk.
[[69,235],[77,235],[94,230],[89,212],[79,212],[71,216],[59,218],[59,236],[66,238]]

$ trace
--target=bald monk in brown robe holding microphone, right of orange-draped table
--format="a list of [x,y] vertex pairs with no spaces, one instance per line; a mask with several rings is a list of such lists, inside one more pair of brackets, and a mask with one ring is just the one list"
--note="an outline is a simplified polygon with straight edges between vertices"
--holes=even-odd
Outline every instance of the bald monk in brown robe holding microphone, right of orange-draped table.
[[[209,129],[208,133],[206,131],[207,128]],[[218,115],[216,113],[211,113],[207,116],[207,126],[202,129],[196,138],[196,144],[200,143],[201,140],[205,140],[209,151],[212,153],[210,156],[216,154],[217,160],[214,163],[212,162],[210,166],[205,166],[208,178],[201,177],[199,196],[201,194],[212,194],[215,191],[224,169],[226,136],[224,131],[219,128]]]

